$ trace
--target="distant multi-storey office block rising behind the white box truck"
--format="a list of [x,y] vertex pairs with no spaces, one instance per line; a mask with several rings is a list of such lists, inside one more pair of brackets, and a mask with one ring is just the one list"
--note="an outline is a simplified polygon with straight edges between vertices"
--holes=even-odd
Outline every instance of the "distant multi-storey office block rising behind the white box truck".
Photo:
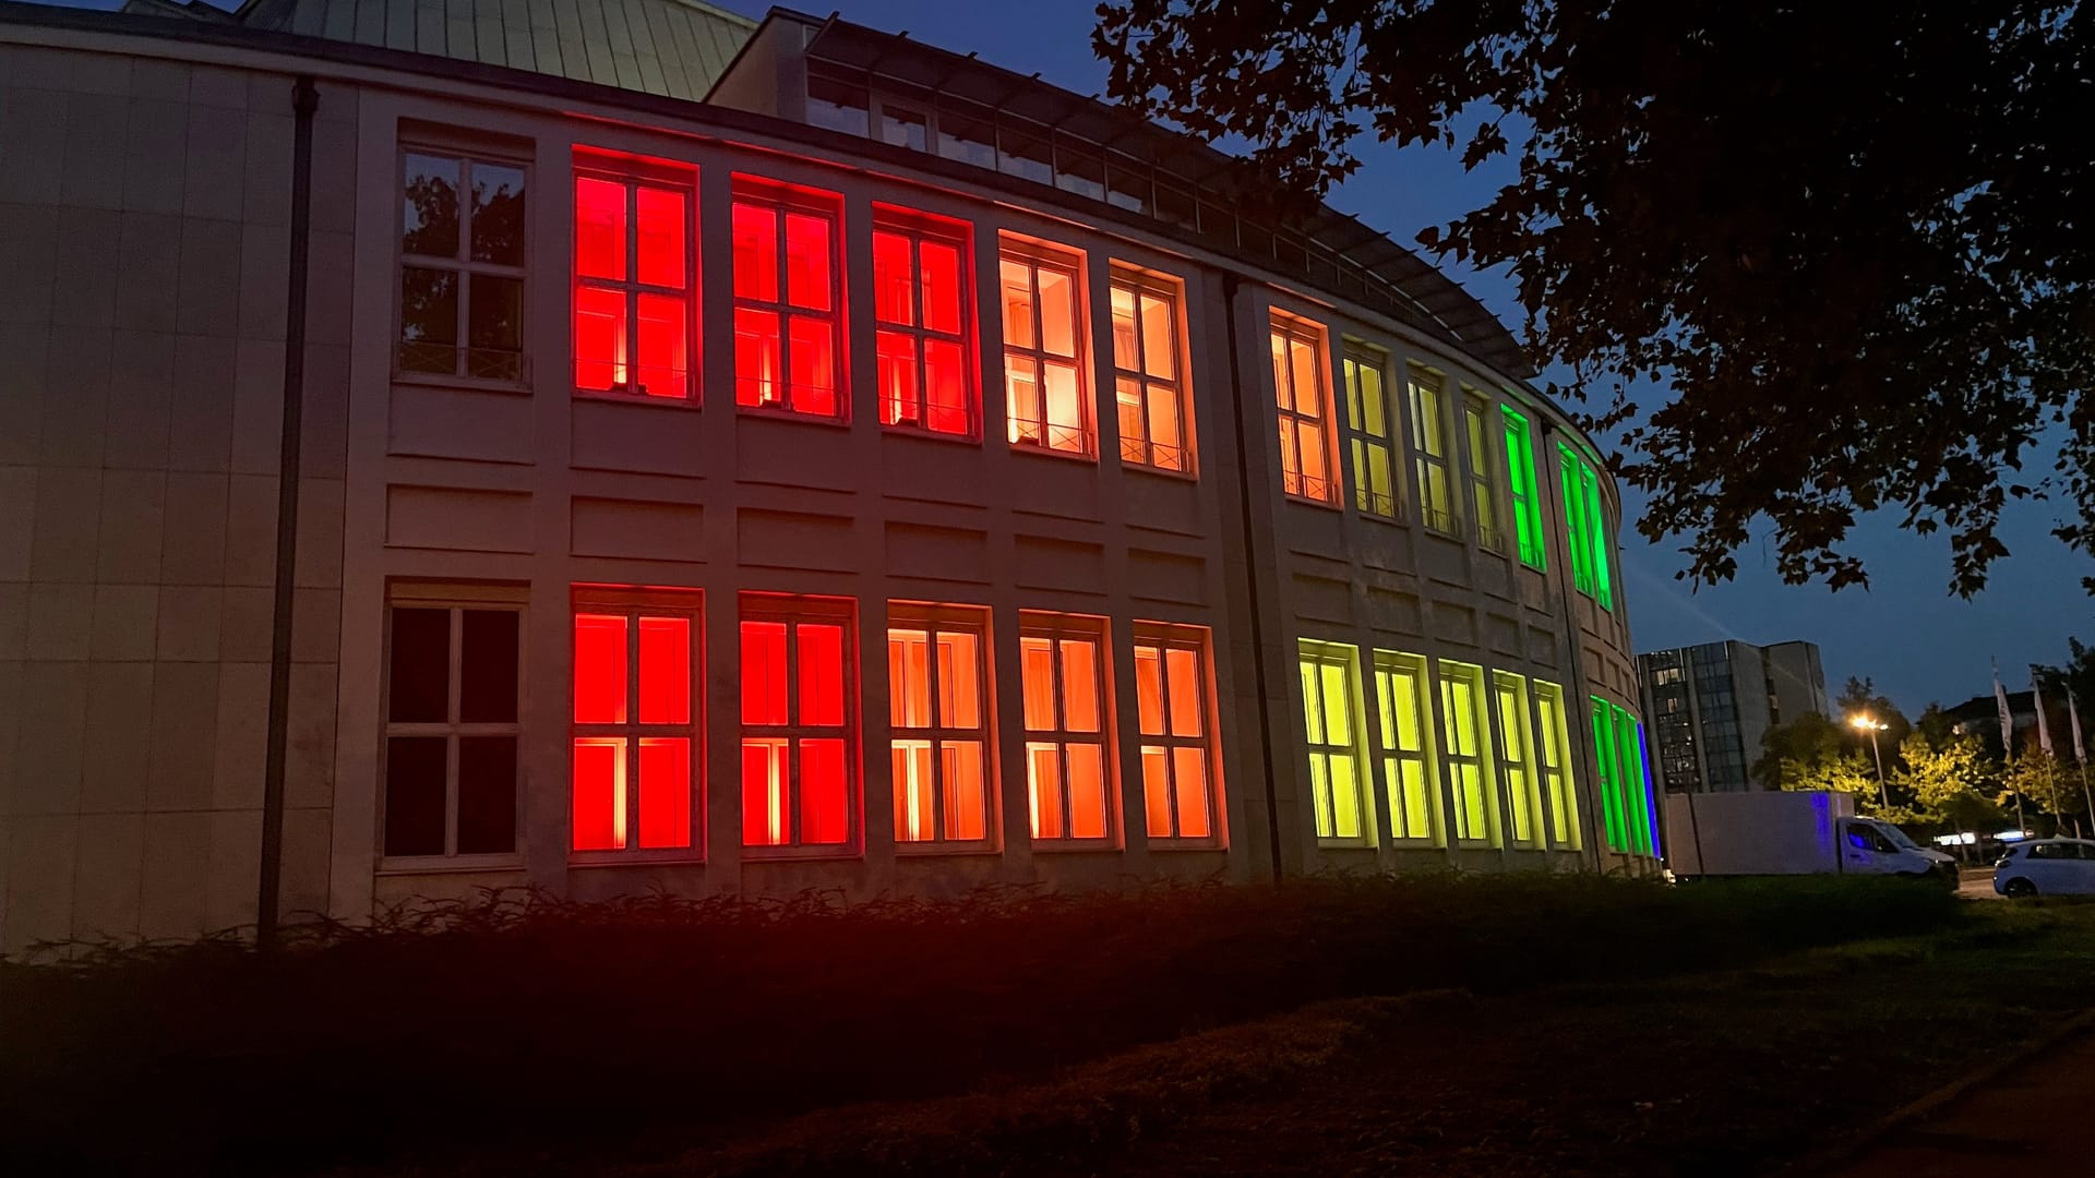
[[1730,792],[1751,780],[1770,727],[1827,715],[1818,646],[1707,641],[1636,656],[1653,769],[1668,790]]

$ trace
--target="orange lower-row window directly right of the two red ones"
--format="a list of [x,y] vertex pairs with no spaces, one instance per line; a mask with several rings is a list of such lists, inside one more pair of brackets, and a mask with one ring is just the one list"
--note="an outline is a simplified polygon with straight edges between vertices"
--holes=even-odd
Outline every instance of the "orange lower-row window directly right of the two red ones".
[[895,841],[987,847],[985,610],[888,604]]

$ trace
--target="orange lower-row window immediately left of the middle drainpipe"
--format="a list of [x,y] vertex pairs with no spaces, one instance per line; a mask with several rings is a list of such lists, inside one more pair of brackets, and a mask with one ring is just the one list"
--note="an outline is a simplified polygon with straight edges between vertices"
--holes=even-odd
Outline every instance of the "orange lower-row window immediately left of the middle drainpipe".
[[1135,623],[1135,715],[1150,841],[1215,838],[1205,629]]

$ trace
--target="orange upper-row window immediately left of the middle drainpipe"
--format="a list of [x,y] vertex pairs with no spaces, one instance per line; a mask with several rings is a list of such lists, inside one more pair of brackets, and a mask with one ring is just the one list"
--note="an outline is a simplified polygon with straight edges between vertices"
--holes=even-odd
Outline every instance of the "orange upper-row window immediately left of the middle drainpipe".
[[1131,465],[1192,470],[1179,371],[1182,289],[1161,275],[1112,268],[1112,400],[1121,415],[1121,461]]

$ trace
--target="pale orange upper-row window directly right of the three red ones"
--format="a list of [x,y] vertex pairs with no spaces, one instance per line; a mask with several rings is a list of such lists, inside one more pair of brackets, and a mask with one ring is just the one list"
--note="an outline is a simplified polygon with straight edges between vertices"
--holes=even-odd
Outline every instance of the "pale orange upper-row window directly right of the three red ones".
[[1004,402],[1014,446],[1091,453],[1077,256],[1004,241]]

